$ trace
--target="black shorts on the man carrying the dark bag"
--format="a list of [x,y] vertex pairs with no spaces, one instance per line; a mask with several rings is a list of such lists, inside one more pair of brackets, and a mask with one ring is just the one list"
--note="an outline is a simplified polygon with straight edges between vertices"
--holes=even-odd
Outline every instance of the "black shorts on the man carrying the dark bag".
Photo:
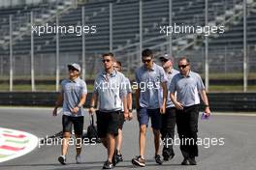
[[101,112],[96,111],[97,129],[100,138],[107,137],[107,134],[118,135],[118,127],[121,111]]

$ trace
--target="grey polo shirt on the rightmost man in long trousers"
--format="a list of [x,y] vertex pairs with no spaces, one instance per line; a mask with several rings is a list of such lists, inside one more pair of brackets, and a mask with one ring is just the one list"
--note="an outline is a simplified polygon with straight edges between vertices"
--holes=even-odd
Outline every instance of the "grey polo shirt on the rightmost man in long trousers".
[[185,77],[177,73],[169,86],[170,93],[176,92],[176,100],[183,106],[191,106],[200,103],[199,92],[205,90],[201,76],[190,71]]

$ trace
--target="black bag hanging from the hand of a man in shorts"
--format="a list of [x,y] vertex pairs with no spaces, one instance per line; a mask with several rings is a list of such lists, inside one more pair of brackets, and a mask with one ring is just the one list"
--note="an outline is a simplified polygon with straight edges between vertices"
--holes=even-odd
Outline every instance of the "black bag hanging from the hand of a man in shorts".
[[87,133],[85,134],[86,138],[89,139],[90,143],[101,143],[101,139],[98,136],[97,127],[94,126],[94,116],[90,116],[90,125],[87,128]]

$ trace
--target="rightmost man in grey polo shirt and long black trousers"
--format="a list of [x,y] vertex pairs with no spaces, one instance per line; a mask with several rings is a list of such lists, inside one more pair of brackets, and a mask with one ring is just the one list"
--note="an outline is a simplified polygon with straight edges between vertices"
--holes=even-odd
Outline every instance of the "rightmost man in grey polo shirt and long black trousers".
[[179,73],[174,76],[169,90],[176,106],[176,127],[180,150],[184,157],[181,165],[196,165],[199,94],[206,106],[205,113],[209,116],[208,96],[201,76],[190,70],[190,63],[186,57],[178,60],[178,68]]

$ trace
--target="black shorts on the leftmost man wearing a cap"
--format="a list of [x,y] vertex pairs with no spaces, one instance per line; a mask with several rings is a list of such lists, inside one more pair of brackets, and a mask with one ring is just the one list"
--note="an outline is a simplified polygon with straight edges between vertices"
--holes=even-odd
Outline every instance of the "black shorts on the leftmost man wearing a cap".
[[62,116],[62,127],[63,132],[72,132],[72,124],[74,125],[75,134],[82,135],[83,131],[83,116]]

